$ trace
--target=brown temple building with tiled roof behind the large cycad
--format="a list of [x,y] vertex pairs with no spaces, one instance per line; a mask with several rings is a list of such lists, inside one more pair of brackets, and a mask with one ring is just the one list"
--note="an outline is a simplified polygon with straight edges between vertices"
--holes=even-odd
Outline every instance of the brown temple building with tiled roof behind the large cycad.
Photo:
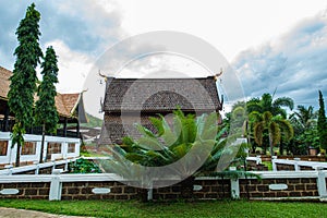
[[[134,123],[153,130],[149,117],[169,119],[173,110],[185,113],[217,112],[222,109],[216,77],[116,78],[107,77],[100,144],[121,144],[123,136],[138,137]],[[217,121],[218,122],[218,121]]]

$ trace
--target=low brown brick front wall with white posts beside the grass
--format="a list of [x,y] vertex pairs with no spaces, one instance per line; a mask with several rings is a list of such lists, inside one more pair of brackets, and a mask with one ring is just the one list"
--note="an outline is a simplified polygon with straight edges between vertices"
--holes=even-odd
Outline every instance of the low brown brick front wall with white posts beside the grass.
[[[129,186],[113,173],[98,174],[13,174],[0,177],[0,198],[60,199],[147,199],[182,198],[182,183],[143,190]],[[325,201],[327,171],[261,171],[255,178],[196,178],[192,197],[197,199],[315,199]],[[168,180],[168,179],[167,179]],[[155,181],[154,181],[155,182]]]

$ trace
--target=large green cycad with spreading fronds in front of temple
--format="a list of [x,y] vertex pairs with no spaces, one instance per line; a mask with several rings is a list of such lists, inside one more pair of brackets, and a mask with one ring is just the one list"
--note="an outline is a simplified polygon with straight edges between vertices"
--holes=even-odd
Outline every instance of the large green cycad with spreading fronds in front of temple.
[[[195,118],[181,110],[173,112],[171,123],[162,116],[150,118],[156,133],[136,124],[142,136],[138,140],[124,137],[122,145],[113,147],[113,158],[102,161],[100,166],[125,180],[141,180],[143,183],[136,185],[147,189],[208,175],[217,171],[219,164],[228,167],[239,154],[239,146],[228,146],[232,141],[221,137],[225,130],[218,126],[217,120],[215,112]],[[218,169],[225,170],[221,167]],[[156,179],[161,183],[154,185],[152,181]],[[133,185],[132,182],[129,184]]]

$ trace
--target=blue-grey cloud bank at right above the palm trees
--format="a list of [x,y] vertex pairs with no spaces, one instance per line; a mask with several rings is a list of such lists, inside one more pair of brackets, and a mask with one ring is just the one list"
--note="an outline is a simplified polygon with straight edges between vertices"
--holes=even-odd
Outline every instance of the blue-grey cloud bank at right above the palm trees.
[[327,93],[327,17],[307,17],[270,44],[243,51],[234,61],[245,94],[263,93],[317,106],[317,90]]

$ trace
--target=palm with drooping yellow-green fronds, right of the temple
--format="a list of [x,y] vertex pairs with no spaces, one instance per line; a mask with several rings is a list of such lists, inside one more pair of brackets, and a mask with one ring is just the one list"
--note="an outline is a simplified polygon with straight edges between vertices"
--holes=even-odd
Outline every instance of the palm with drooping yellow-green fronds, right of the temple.
[[290,122],[282,116],[272,116],[270,111],[259,113],[254,111],[250,113],[254,122],[254,140],[258,145],[263,145],[264,134],[268,134],[270,155],[274,155],[274,146],[280,143],[281,135],[284,135],[287,141],[293,137],[293,128]]

